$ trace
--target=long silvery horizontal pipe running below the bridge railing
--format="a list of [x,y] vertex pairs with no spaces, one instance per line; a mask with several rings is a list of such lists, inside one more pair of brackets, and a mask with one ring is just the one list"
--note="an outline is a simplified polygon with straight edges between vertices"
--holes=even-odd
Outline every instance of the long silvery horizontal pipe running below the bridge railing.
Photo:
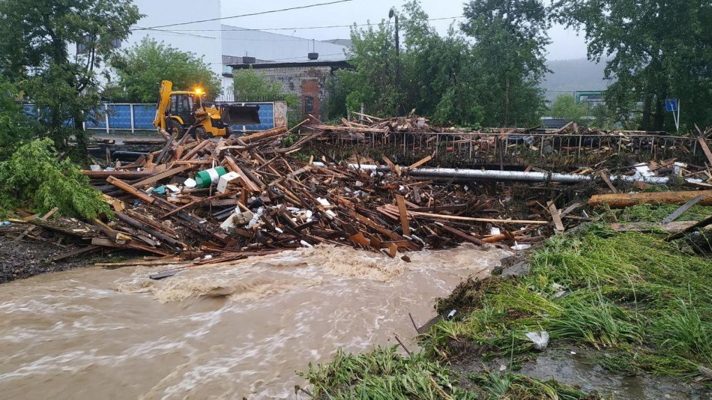
[[[315,166],[324,166],[323,163],[314,163]],[[349,164],[349,168],[363,171],[389,171],[374,165]],[[497,170],[475,170],[460,168],[415,168],[408,172],[413,176],[426,176],[434,178],[461,178],[468,180],[517,180],[520,182],[560,182],[560,183],[581,183],[598,178],[597,175],[577,175],[572,173],[547,173],[547,172],[524,172],[524,171],[497,171]],[[611,175],[610,180],[622,180],[624,182],[644,182],[653,185],[664,185],[671,178],[664,176],[628,176]],[[701,179],[686,178],[688,183],[703,183]]]

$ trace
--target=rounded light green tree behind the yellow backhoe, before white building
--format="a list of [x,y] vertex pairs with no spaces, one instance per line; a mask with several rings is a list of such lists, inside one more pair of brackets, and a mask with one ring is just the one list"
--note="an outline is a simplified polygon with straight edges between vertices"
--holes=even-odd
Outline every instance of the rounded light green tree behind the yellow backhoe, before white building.
[[173,90],[201,87],[209,99],[222,92],[220,78],[202,57],[181,51],[146,36],[132,48],[115,55],[111,67],[117,75],[112,99],[127,102],[155,102],[162,80],[173,82]]

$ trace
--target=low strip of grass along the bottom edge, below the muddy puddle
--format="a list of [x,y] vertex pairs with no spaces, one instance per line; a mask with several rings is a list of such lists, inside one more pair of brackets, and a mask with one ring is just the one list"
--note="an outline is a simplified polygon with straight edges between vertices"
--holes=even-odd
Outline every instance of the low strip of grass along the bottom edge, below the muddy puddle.
[[458,382],[454,373],[424,357],[402,357],[397,347],[376,347],[362,355],[338,350],[329,364],[298,372],[315,399],[351,400],[598,400],[584,391],[520,374],[483,372]]

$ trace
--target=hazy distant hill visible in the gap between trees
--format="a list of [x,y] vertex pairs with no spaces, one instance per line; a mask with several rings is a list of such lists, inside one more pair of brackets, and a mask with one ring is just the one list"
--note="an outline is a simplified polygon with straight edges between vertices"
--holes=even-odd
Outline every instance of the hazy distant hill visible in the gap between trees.
[[563,93],[605,90],[610,83],[603,79],[604,60],[600,64],[585,58],[552,60],[547,65],[553,73],[546,75],[541,87],[546,90],[546,99],[550,101]]

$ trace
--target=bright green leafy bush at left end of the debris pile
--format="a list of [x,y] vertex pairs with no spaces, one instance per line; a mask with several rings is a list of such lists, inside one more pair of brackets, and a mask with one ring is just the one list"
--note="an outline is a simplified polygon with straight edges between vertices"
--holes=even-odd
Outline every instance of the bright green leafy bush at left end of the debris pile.
[[58,215],[94,218],[110,207],[89,178],[79,173],[69,160],[58,161],[51,139],[31,141],[0,163],[0,208],[27,207],[48,212],[58,207]]

